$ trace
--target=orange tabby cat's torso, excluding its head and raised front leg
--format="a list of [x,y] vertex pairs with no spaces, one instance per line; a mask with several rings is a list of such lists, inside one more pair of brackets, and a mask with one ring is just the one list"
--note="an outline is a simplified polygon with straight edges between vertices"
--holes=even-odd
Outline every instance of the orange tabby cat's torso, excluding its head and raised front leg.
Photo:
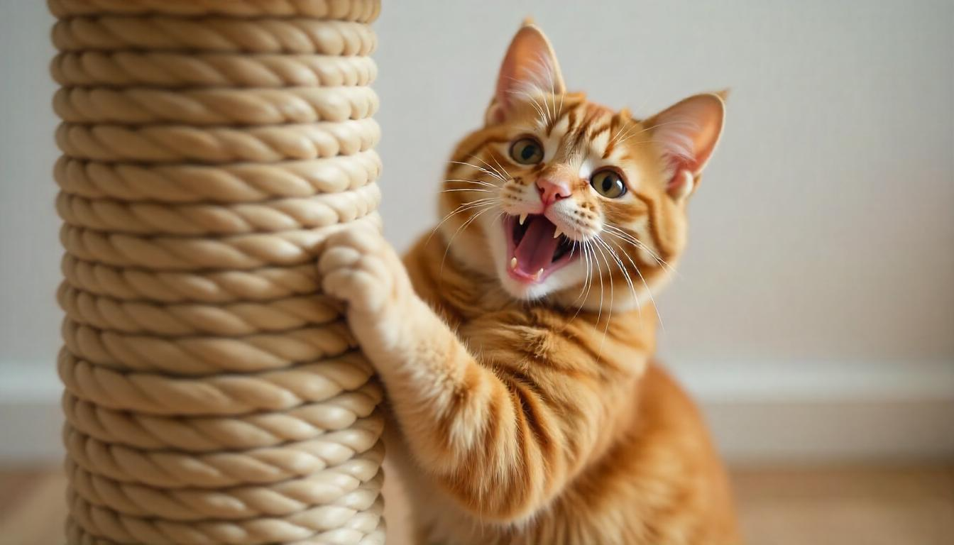
[[[499,524],[489,516],[478,524],[472,509],[458,508],[459,498],[445,493],[413,463],[401,430],[392,427],[388,456],[399,465],[404,492],[413,498],[410,515],[420,543],[738,543],[725,472],[702,419],[692,400],[651,361],[652,309],[613,313],[604,339],[605,315],[598,322],[591,313],[570,320],[575,309],[528,309],[487,279],[475,279],[450,259],[444,261],[444,252],[440,241],[423,239],[404,257],[418,294],[473,351],[492,354],[496,372],[512,381],[513,391],[538,388],[541,397],[569,396],[571,402],[559,405],[574,407],[581,420],[591,421],[568,432],[590,430],[597,436],[589,449],[570,447],[570,463],[553,470],[566,472],[566,484],[543,509],[516,524]],[[587,352],[587,359],[599,357],[598,372],[574,366],[576,350]],[[557,428],[546,422],[552,416],[541,414],[543,409],[525,410],[525,432]],[[571,444],[567,439],[545,440]],[[519,492],[493,487],[483,501],[516,507],[524,500],[522,492],[533,486],[519,483]]]

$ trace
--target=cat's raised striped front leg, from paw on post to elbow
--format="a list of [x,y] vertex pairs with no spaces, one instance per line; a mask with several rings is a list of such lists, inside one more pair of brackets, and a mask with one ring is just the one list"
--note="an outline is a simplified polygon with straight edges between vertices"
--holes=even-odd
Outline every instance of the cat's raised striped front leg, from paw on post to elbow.
[[[346,302],[348,324],[384,382],[419,467],[483,520],[518,520],[546,505],[588,449],[586,440],[560,447],[568,429],[580,429],[573,421],[586,415],[564,416],[541,395],[543,383],[478,363],[417,296],[377,231],[329,238],[319,270],[325,293]],[[572,380],[551,377],[547,385]],[[573,391],[581,403],[588,397]]]

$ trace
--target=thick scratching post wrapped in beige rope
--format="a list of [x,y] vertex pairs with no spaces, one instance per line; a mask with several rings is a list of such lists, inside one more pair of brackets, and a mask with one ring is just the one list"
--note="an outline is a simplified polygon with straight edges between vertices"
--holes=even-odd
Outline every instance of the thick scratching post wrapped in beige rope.
[[314,262],[380,227],[380,0],[49,0],[68,543],[384,543],[383,390]]

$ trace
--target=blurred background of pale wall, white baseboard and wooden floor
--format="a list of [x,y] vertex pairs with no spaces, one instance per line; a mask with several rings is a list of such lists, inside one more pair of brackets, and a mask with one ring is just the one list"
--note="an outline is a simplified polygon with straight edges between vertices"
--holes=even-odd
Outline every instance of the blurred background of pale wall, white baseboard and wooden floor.
[[[660,356],[707,413],[751,542],[954,542],[954,2],[384,2],[399,249],[437,220],[527,15],[570,89],[612,108],[732,88]],[[0,474],[31,479],[0,543],[62,487],[51,26],[43,2],[0,0]]]

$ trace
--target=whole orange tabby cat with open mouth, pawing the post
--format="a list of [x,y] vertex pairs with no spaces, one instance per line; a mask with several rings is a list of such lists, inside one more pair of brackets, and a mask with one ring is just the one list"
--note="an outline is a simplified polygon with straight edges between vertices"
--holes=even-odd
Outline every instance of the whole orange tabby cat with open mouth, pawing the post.
[[384,382],[421,543],[739,542],[705,426],[652,362],[652,294],[723,114],[717,94],[638,120],[567,93],[526,25],[453,154],[439,236],[404,265],[373,230],[328,242],[323,288]]

